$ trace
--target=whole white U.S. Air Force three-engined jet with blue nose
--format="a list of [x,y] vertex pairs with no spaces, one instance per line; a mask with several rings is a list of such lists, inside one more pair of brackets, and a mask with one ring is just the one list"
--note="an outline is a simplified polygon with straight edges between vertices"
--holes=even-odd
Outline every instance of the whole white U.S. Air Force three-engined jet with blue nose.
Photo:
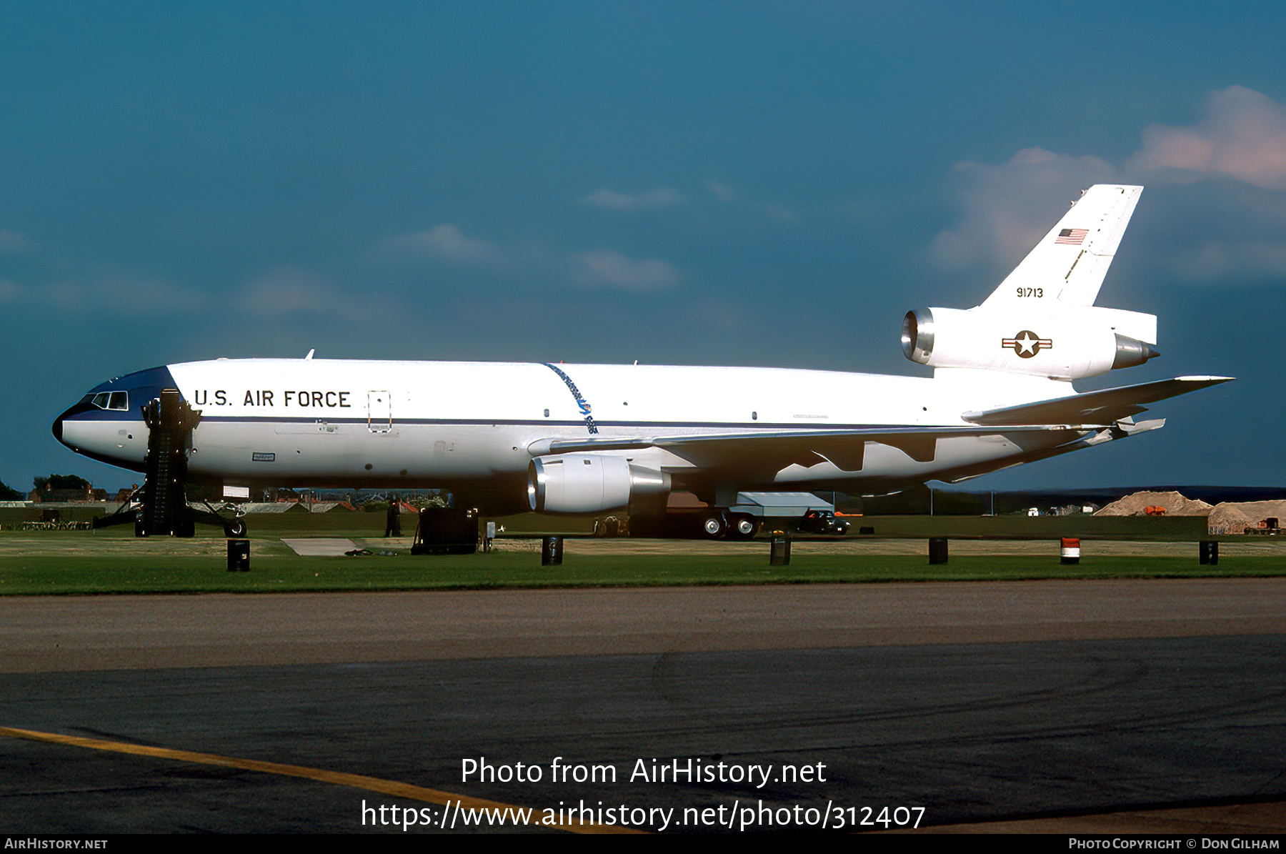
[[219,359],[95,386],[54,436],[145,469],[144,408],[194,414],[186,477],[251,486],[444,487],[500,513],[711,507],[750,536],[738,491],[887,494],[1155,430],[1146,405],[1227,382],[1177,377],[1076,394],[1071,381],[1159,355],[1156,316],[1094,305],[1141,186],[1085,190],[979,306],[903,319],[932,378],[781,368]]

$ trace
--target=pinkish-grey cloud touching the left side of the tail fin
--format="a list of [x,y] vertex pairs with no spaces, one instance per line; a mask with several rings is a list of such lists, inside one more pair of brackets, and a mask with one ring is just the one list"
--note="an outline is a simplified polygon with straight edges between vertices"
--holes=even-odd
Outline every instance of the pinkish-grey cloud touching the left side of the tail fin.
[[1024,148],[999,166],[958,163],[966,175],[964,216],[940,232],[930,247],[932,260],[945,269],[974,264],[1012,268],[1037,244],[1055,220],[1069,188],[1116,179],[1116,168],[1098,157],[1056,154]]

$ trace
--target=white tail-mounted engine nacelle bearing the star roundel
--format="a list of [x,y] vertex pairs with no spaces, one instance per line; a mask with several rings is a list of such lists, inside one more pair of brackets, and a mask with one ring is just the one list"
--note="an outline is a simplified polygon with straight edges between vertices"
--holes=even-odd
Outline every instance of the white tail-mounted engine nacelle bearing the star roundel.
[[1159,356],[1156,315],[1097,306],[1057,314],[927,309],[901,322],[901,351],[931,368],[1080,379]]

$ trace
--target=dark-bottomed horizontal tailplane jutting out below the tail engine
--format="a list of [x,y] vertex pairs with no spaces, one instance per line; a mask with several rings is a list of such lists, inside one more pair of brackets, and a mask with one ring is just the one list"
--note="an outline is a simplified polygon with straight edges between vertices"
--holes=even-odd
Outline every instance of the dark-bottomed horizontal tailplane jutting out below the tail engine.
[[1143,404],[1186,395],[1190,391],[1229,382],[1232,377],[1175,377],[1138,386],[1087,391],[1034,404],[967,412],[961,415],[975,424],[999,427],[1016,424],[1111,424],[1146,412]]

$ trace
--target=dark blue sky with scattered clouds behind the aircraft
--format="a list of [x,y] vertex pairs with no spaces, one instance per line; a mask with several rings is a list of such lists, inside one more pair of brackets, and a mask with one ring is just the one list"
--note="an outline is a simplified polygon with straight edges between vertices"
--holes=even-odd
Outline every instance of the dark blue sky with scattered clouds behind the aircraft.
[[[136,476],[49,423],[217,356],[923,376],[1093,183],[1147,186],[1100,305],[1238,382],[979,489],[1282,484],[1278,4],[0,8],[0,480]],[[1151,415],[1150,415],[1151,417]]]

